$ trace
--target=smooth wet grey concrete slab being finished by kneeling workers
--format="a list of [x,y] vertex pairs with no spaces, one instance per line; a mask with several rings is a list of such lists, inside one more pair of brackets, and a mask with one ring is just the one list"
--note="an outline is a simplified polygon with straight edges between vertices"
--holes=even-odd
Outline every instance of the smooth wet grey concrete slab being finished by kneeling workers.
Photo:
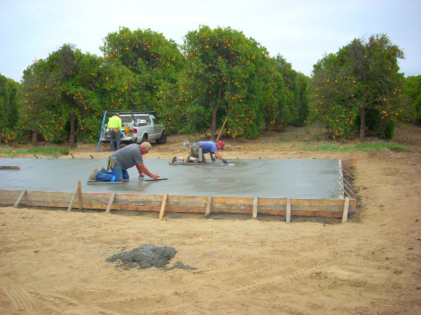
[[[169,159],[145,159],[150,172],[167,181],[138,179],[135,167],[130,181],[122,184],[87,185],[93,169],[106,167],[107,159],[1,158],[0,190],[74,192],[81,181],[83,193],[147,195],[339,198],[340,161],[336,159],[241,159],[234,165],[210,162],[203,165],[168,165]],[[148,177],[146,176],[148,179]]]

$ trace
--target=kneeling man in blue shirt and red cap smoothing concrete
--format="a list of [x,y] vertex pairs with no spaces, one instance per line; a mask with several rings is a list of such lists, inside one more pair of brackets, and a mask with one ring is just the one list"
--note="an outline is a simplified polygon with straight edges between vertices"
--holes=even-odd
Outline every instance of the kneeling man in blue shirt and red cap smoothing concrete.
[[218,153],[218,151],[221,151],[224,149],[225,143],[224,141],[199,141],[195,142],[192,145],[192,148],[190,149],[190,153],[187,154],[186,158],[178,158],[176,156],[173,156],[171,159],[171,163],[175,161],[183,161],[184,164],[190,163],[190,162],[206,162],[205,153],[210,153],[210,160],[212,162],[215,162],[215,158],[213,158],[213,155],[215,155],[216,158],[220,159],[224,164],[228,164],[227,160],[222,158],[222,155]]

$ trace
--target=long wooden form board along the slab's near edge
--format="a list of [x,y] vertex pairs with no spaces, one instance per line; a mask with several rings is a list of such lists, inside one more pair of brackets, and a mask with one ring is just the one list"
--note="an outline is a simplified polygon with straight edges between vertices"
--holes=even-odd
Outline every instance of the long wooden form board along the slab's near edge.
[[[69,201],[75,201],[79,195],[79,189],[75,192],[42,192],[27,190],[22,195],[19,204],[33,207],[70,208]],[[0,204],[13,205],[22,192],[20,190],[0,190]],[[109,204],[112,193],[81,193],[84,209],[112,209],[129,211],[154,211],[206,214],[250,214],[253,209],[257,216],[261,214],[286,216],[288,198],[255,198],[255,197],[218,197],[213,196],[209,202],[208,196],[180,196],[167,195],[166,203],[163,204],[164,195],[133,195],[116,194]],[[257,207],[255,207],[257,204]],[[344,212],[344,199],[295,199],[290,198],[290,216],[320,216],[342,218]],[[72,208],[79,205],[72,203]],[[70,208],[70,209],[72,209]],[[356,200],[349,199],[348,213],[356,211]]]

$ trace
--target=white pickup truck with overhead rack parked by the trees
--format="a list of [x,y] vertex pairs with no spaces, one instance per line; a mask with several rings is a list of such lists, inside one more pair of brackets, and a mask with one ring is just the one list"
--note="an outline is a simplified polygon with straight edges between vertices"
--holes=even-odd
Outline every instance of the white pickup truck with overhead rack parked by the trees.
[[[121,118],[121,144],[141,144],[144,141],[165,144],[165,127],[160,125],[151,113],[143,113],[142,111],[108,112],[107,120],[115,113],[119,113]],[[107,123],[104,123],[102,128],[101,142],[109,143]]]

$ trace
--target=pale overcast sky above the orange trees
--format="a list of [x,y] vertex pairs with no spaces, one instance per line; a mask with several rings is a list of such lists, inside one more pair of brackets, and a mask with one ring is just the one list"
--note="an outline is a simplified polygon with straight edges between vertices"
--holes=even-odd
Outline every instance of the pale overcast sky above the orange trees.
[[35,59],[65,43],[102,55],[102,38],[119,27],[150,28],[182,43],[208,25],[243,31],[307,76],[325,53],[384,33],[406,55],[401,72],[417,76],[420,20],[421,0],[0,0],[0,73],[19,81]]

